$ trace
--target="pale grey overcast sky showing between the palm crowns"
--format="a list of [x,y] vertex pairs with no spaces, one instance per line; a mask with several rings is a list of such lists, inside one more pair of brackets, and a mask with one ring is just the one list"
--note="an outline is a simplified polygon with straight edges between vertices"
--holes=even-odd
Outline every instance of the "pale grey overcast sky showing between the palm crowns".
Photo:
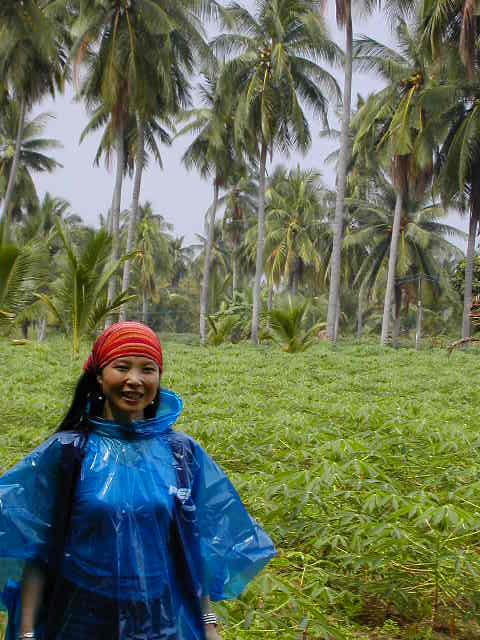
[[[252,8],[254,2],[249,0],[244,5]],[[329,2],[326,20],[331,29],[332,37],[342,46],[343,34],[336,28],[334,21],[334,3]],[[391,44],[394,42],[392,34],[384,17],[375,14],[368,20],[355,21],[355,35],[368,33],[372,37]],[[340,85],[343,85],[343,74],[340,70],[332,70]],[[378,79],[371,76],[356,75],[354,78],[353,97],[357,93],[366,96],[381,87]],[[55,101],[48,99],[35,109],[35,113],[49,112],[54,117],[49,121],[46,136],[58,139],[63,148],[55,152],[56,159],[63,168],[51,175],[37,175],[35,182],[41,195],[49,191],[55,196],[66,198],[72,210],[82,218],[96,226],[99,213],[108,210],[114,183],[114,167],[94,167],[93,158],[98,147],[100,134],[90,135],[80,145],[80,134],[88,118],[83,104],[76,103],[71,87],[65,95],[57,97]],[[332,167],[324,164],[323,160],[335,148],[336,143],[319,137],[320,123],[314,122],[310,114],[312,125],[312,147],[306,156],[293,155],[289,159],[276,154],[273,166],[284,163],[295,166],[300,163],[304,169],[320,170],[327,186],[333,187],[335,175]],[[332,119],[331,126],[336,123]],[[188,139],[178,139],[172,147],[163,147],[162,158],[164,169],[160,170],[153,162],[144,173],[142,181],[141,202],[150,200],[156,213],[162,214],[172,222],[176,235],[184,235],[186,242],[193,242],[196,233],[202,233],[203,219],[206,209],[212,199],[211,185],[201,180],[195,172],[187,172],[181,157],[188,145]],[[130,180],[124,182],[122,207],[130,205],[132,184]],[[449,221],[456,226],[465,228],[464,221],[458,216],[452,216]]]

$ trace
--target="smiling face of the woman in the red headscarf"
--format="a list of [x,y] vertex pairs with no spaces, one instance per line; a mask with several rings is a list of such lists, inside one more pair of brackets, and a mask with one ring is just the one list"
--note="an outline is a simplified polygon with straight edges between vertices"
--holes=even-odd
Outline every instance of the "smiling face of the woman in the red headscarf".
[[107,364],[97,376],[105,396],[103,417],[117,422],[141,420],[155,399],[160,370],[150,358],[128,356]]

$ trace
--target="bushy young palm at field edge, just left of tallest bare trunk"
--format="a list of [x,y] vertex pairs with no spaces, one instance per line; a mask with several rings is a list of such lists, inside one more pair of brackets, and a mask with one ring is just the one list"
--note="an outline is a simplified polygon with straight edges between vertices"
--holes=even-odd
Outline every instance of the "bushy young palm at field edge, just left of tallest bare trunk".
[[319,330],[325,327],[325,323],[305,327],[308,307],[308,301],[294,302],[289,298],[288,305],[272,309],[268,314],[273,339],[287,353],[297,353],[311,347]]

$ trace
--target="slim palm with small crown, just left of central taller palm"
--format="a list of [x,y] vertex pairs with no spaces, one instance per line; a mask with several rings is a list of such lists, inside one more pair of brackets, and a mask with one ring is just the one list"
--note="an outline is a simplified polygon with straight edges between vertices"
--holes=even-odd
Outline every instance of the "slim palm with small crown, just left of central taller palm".
[[213,182],[213,203],[206,217],[207,239],[200,292],[202,344],[207,341],[208,286],[219,192],[233,175],[236,164],[238,165],[233,146],[232,96],[219,94],[217,91],[217,72],[216,67],[204,72],[204,83],[200,91],[205,106],[186,111],[182,118],[190,122],[179,132],[179,135],[196,134],[182,158],[187,169],[196,167],[203,178],[210,177]]

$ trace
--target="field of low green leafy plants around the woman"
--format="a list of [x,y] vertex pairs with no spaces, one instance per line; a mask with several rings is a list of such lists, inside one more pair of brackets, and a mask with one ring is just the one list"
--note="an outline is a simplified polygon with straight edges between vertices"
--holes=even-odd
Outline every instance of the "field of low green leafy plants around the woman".
[[[480,637],[477,352],[168,342],[165,355],[179,428],[279,550],[218,606],[226,640]],[[0,470],[55,428],[80,369],[63,341],[0,342]]]

